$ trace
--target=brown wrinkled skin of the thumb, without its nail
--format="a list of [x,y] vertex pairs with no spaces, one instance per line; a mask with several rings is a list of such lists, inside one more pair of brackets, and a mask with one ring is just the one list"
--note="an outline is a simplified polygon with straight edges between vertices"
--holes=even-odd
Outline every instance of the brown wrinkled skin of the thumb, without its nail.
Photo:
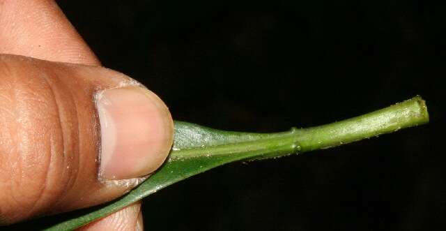
[[[3,70],[5,62],[8,68]],[[146,178],[99,181],[99,143],[91,142],[99,137],[95,92],[136,82],[106,68],[10,55],[0,55],[0,73],[4,80],[0,82],[0,97],[17,98],[21,103],[19,112],[10,107],[10,100],[0,101],[0,108],[8,108],[0,109],[0,142],[5,144],[0,147],[0,155],[8,163],[0,163],[0,181],[8,179],[8,184],[15,184],[0,184],[0,191],[10,192],[0,193],[0,223],[29,218],[28,211],[32,216],[54,214],[107,202]],[[17,113],[22,115],[17,117]],[[93,117],[82,116],[85,114]],[[66,135],[63,139],[61,133]],[[20,157],[24,159],[20,161]],[[47,164],[40,164],[41,158],[48,158],[43,162]],[[11,168],[11,164],[16,167]],[[54,167],[52,172],[48,172],[50,165]]]

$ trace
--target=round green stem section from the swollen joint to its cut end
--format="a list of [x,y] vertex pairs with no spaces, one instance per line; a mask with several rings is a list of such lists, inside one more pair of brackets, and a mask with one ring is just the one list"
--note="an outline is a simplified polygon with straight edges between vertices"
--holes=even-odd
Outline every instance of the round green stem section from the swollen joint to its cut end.
[[297,131],[301,151],[327,149],[429,122],[420,96],[343,121]]

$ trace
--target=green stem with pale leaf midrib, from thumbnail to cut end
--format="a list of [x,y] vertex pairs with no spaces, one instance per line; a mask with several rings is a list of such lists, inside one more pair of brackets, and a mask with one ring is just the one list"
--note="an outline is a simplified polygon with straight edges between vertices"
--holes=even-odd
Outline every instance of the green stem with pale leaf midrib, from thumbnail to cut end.
[[426,104],[420,96],[415,96],[381,110],[323,126],[293,128],[283,133],[252,134],[252,138],[244,142],[237,142],[240,141],[237,135],[246,137],[247,133],[236,133],[237,135],[233,137],[234,142],[203,149],[178,149],[172,151],[170,158],[193,158],[210,154],[212,156],[240,154],[239,160],[275,158],[316,149],[328,149],[427,122],[429,114]]

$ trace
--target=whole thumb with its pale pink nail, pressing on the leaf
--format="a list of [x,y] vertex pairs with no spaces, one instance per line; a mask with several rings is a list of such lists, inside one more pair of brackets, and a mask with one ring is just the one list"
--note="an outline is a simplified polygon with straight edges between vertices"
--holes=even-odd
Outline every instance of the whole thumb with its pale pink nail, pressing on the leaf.
[[113,200],[172,139],[167,107],[130,77],[0,55],[0,225]]

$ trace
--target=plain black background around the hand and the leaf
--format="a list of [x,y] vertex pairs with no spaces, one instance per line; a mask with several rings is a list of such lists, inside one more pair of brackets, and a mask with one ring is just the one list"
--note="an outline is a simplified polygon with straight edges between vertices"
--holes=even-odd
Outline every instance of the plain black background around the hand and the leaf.
[[144,200],[146,230],[446,230],[445,8],[426,1],[58,1],[176,120],[285,131],[420,94],[431,123],[233,163]]

